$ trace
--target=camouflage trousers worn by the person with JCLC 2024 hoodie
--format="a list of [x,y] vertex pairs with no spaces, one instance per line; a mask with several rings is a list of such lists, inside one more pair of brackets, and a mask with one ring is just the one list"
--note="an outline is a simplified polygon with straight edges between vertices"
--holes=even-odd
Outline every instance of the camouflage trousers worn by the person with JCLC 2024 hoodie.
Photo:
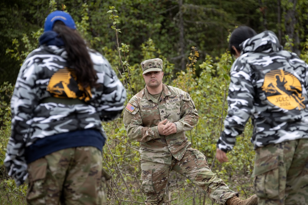
[[308,139],[257,148],[253,177],[260,205],[308,204]]

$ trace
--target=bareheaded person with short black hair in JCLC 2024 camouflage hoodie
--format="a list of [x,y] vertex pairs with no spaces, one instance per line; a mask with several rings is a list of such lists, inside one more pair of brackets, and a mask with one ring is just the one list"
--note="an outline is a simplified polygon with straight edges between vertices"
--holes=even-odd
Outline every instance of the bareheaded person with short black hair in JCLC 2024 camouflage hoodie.
[[[230,39],[240,38],[241,29]],[[308,204],[308,65],[283,50],[271,31],[245,40],[240,48],[233,47],[238,58],[231,68],[229,108],[217,159],[228,161],[226,152],[251,117],[259,204]]]

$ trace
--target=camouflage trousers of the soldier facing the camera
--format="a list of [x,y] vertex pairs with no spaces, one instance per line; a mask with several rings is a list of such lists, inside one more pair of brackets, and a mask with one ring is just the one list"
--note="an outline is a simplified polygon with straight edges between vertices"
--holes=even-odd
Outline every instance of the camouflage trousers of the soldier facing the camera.
[[227,199],[238,196],[208,166],[206,157],[197,149],[187,148],[181,160],[172,159],[171,164],[141,160],[141,190],[147,196],[146,205],[164,205],[166,185],[172,170],[187,177],[201,188],[213,202],[225,204]]

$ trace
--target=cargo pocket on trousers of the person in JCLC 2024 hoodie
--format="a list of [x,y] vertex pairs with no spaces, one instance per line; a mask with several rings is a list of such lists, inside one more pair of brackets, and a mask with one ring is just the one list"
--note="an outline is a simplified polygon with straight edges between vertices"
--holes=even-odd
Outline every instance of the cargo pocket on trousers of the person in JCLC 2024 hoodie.
[[258,197],[279,199],[279,155],[258,159],[254,164],[253,179]]

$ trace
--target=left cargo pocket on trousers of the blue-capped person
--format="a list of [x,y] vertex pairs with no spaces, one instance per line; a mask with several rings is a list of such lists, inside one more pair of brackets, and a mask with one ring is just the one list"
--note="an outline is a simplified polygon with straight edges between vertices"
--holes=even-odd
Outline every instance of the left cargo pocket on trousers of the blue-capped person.
[[28,164],[29,186],[27,191],[27,201],[34,199],[42,199],[46,195],[46,187],[44,186],[47,172],[47,160],[40,158]]

